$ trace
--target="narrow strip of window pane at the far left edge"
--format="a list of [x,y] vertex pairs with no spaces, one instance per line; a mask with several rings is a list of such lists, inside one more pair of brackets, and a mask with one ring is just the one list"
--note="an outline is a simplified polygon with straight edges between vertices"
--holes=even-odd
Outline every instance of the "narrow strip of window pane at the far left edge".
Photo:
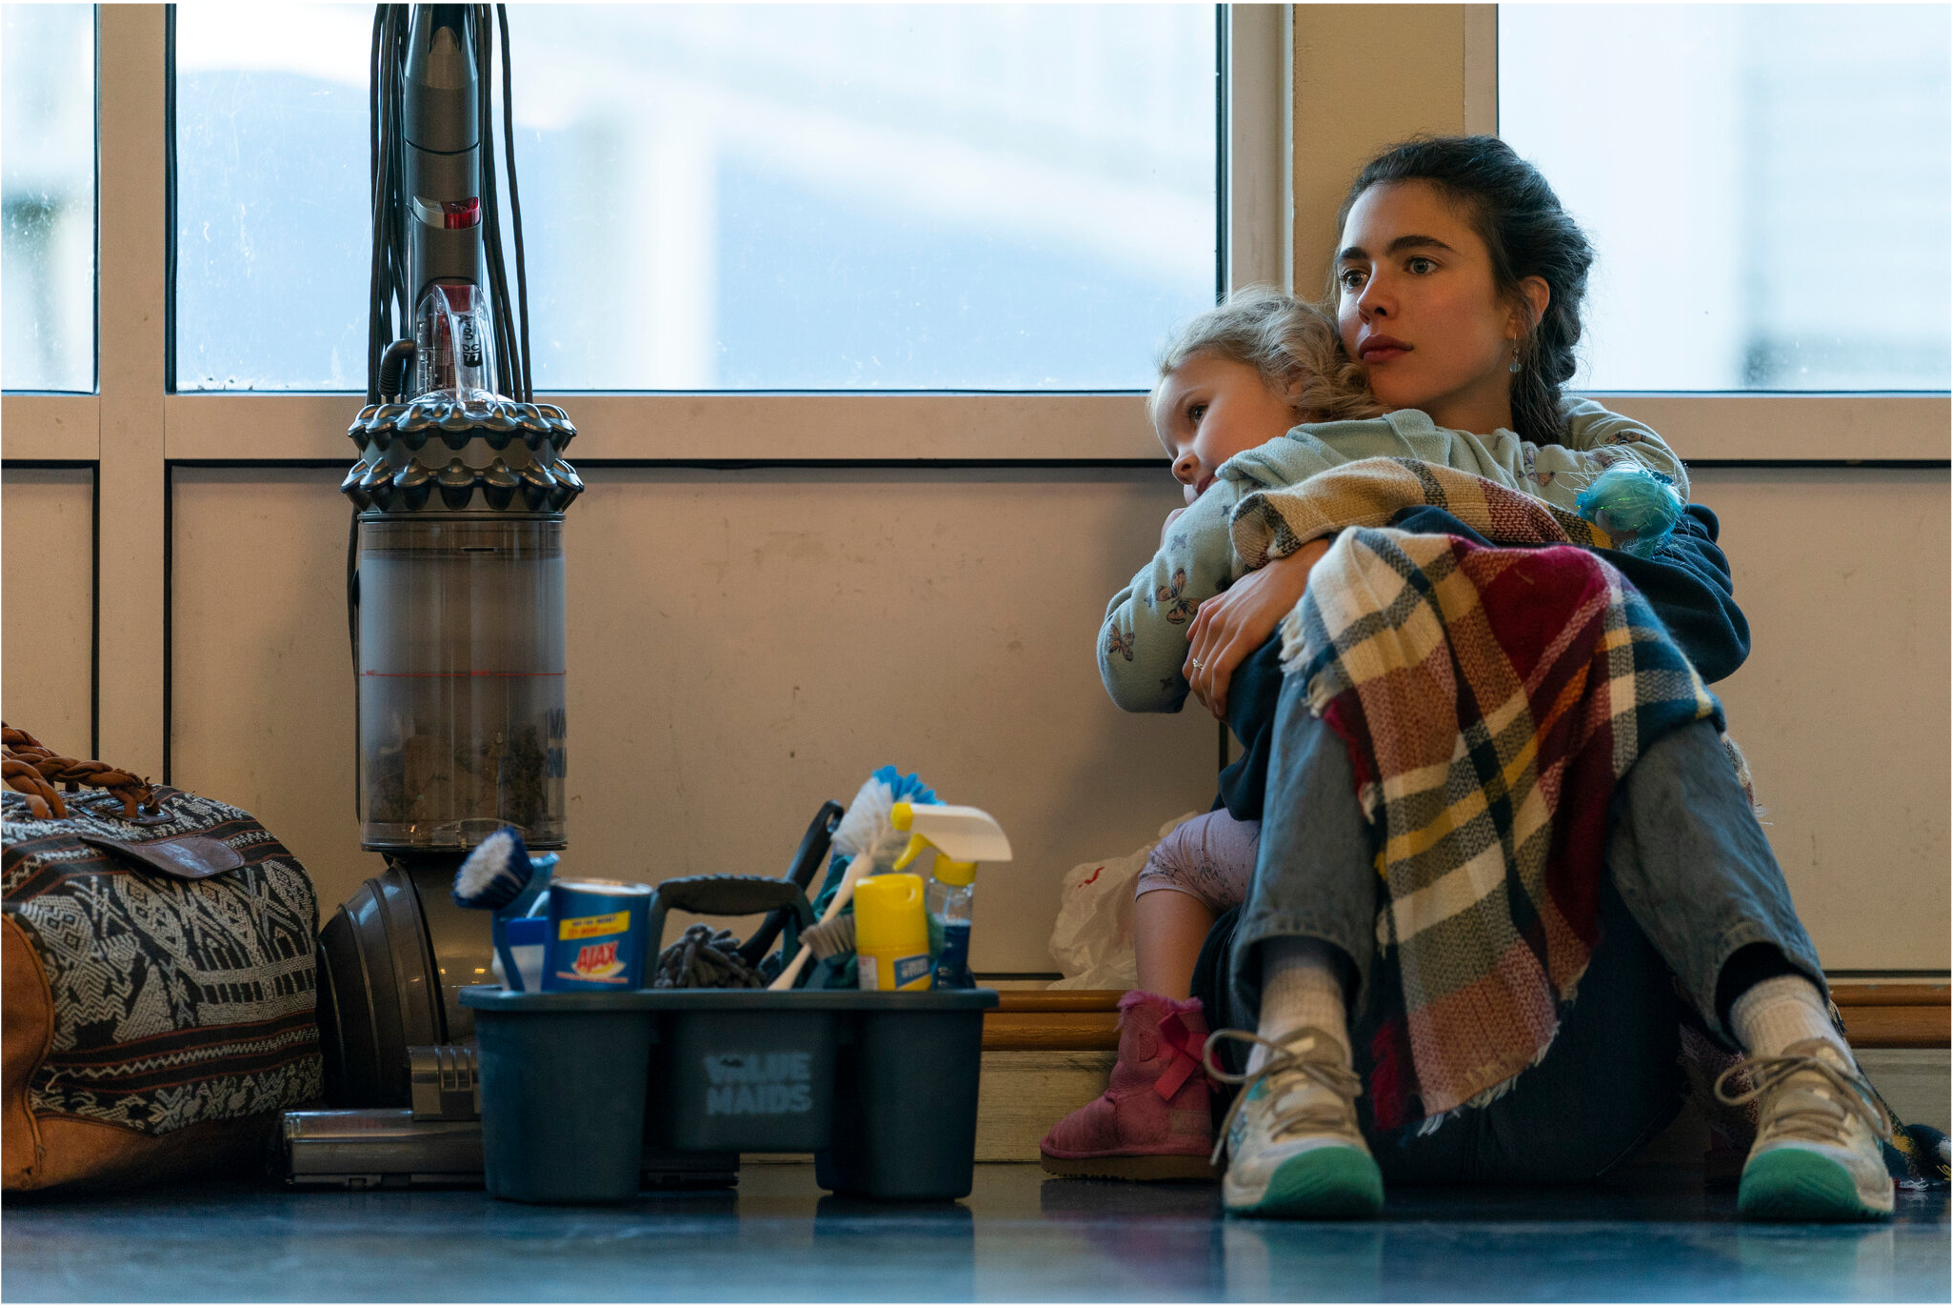
[[96,8],[0,4],[0,390],[96,388]]

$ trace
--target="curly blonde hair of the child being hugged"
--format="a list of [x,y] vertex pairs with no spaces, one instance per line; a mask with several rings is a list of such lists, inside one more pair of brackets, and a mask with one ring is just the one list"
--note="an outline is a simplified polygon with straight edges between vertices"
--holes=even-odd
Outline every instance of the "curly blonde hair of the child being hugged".
[[1302,423],[1378,417],[1386,405],[1367,390],[1367,374],[1347,358],[1339,327],[1326,309],[1275,286],[1245,286],[1204,309],[1179,331],[1155,360],[1149,423],[1163,380],[1198,354],[1251,364],[1265,386],[1292,403]]

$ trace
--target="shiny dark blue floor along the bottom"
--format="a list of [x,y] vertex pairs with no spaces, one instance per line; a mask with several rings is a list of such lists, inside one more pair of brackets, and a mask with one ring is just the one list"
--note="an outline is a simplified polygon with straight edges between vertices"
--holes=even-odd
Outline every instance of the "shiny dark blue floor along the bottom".
[[736,1192],[525,1208],[482,1192],[10,1202],[0,1300],[1950,1302],[1950,1196],[1886,1226],[1752,1226],[1733,1191],[1647,1173],[1586,1191],[1398,1191],[1378,1222],[1226,1220],[1214,1187],[987,1165],[969,1200],[881,1206],[811,1167]]

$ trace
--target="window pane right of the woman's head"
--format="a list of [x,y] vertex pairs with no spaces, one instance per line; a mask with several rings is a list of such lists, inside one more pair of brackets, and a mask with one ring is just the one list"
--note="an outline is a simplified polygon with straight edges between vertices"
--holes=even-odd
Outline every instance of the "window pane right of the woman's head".
[[1950,390],[1950,6],[1504,4],[1500,96],[1598,245],[1580,386]]

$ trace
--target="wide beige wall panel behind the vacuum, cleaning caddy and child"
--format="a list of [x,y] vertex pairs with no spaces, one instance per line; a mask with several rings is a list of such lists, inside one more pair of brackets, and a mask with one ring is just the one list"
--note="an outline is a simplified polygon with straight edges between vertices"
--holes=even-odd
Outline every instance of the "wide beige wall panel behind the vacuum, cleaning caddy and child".
[[[172,779],[245,805],[321,901],[352,807],[339,472],[178,470]],[[1059,875],[1210,801],[1216,726],[1102,693],[1102,607],[1179,503],[1157,470],[595,470],[566,517],[566,867],[779,875],[881,764],[993,811],[975,961],[1049,971]]]

